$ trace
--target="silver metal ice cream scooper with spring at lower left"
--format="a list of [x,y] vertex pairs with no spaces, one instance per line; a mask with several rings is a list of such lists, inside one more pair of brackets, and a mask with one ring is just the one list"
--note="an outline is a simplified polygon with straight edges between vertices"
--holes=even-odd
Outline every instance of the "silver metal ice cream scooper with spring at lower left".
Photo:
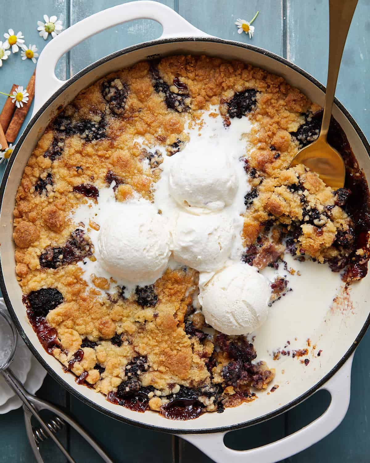
[[[49,402],[46,402],[45,400],[38,399],[35,395],[29,394],[25,390],[22,383],[12,373],[12,370],[9,369],[9,365],[12,363],[15,356],[17,346],[18,334],[14,325],[12,324],[12,320],[6,312],[0,309],[0,375],[4,377],[9,387],[13,389],[13,391],[18,395],[19,399],[23,402],[27,436],[37,463],[43,463],[43,459],[38,449],[34,431],[32,429],[32,416],[34,416],[41,425],[41,428],[38,430],[38,434],[43,436],[43,438],[45,438],[45,435],[51,438],[57,445],[58,449],[67,458],[68,462],[76,463],[56,438],[54,432],[51,431],[51,429],[57,431],[58,428],[61,427],[61,419],[71,425],[80,434],[80,436],[82,436],[93,447],[93,449],[100,455],[100,457],[102,457],[103,461],[106,463],[113,463],[113,461],[108,457],[104,450],[99,447],[99,445],[73,419],[69,418],[68,415],[63,413],[59,408],[55,407]],[[39,414],[41,410],[49,410],[50,412],[54,413],[56,415],[54,421],[59,425],[52,426],[50,423],[49,425],[48,423],[45,423]],[[43,438],[38,440],[43,440]]]

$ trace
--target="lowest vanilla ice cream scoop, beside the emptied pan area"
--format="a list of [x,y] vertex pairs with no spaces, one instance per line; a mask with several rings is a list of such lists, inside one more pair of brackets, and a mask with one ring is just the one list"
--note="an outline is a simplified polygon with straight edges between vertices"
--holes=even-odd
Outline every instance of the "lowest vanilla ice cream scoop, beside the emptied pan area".
[[224,267],[199,290],[205,321],[224,334],[253,332],[267,319],[269,281],[246,263]]

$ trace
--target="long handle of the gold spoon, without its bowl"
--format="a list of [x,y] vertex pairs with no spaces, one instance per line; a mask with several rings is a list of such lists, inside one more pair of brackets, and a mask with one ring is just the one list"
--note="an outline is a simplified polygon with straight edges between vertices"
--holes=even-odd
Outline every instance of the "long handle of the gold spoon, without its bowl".
[[345,40],[358,0],[329,0],[329,64],[320,138],[326,141]]

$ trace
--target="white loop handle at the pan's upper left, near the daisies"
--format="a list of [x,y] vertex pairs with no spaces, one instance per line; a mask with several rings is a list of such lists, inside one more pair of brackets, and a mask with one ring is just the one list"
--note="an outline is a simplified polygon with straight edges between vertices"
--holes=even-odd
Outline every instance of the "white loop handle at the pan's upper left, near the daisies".
[[159,22],[163,27],[160,38],[210,37],[192,26],[170,7],[150,0],[128,2],[95,13],[62,31],[43,49],[36,67],[35,103],[32,116],[66,82],[57,79],[54,72],[61,56],[86,38],[133,19],[154,19]]

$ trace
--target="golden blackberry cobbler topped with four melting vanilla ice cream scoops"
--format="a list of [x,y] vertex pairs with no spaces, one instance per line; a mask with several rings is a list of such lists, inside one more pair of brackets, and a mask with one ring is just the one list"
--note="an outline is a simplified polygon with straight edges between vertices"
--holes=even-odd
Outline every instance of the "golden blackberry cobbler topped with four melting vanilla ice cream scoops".
[[[137,63],[82,91],[37,143],[14,209],[43,347],[107,400],[171,419],[263,394],[275,370],[253,348],[267,316],[255,307],[287,283],[258,271],[290,253],[346,283],[367,272],[368,188],[334,119],[345,188],[289,168],[321,118],[282,77],[207,56]],[[255,285],[250,311],[233,312]]]

